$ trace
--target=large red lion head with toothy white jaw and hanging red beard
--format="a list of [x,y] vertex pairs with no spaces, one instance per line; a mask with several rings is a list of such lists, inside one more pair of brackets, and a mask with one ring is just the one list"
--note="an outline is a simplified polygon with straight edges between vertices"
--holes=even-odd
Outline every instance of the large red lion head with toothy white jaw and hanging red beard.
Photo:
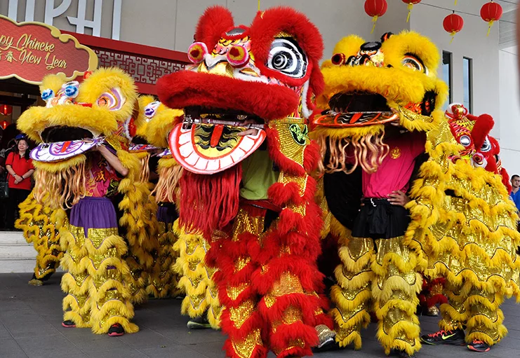
[[324,87],[318,29],[291,8],[259,12],[250,27],[208,8],[188,50],[185,71],[158,82],[161,102],[184,110],[169,144],[185,174],[180,218],[206,233],[238,210],[241,165],[264,140],[281,172],[304,176],[318,156],[307,118]]

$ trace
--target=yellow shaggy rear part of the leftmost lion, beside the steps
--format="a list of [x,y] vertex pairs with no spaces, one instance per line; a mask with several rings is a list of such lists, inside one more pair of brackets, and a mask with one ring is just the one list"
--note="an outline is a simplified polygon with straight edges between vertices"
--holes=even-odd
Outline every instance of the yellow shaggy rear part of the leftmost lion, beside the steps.
[[[63,251],[60,247],[59,230],[65,223],[65,218],[62,209],[53,210],[38,204],[32,193],[20,204],[20,219],[16,221],[15,227],[23,230],[25,240],[32,242],[36,250],[36,280],[52,275],[60,266]],[[41,284],[41,281],[38,282]]]

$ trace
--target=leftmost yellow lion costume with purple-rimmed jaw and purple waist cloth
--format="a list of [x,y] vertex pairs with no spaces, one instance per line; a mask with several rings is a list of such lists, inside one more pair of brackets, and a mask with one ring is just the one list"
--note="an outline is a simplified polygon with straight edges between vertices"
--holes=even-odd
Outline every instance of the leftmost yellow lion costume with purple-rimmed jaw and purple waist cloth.
[[[91,327],[94,333],[133,333],[138,326],[131,301],[142,301],[143,280],[135,280],[129,257],[142,256],[155,215],[149,189],[138,177],[138,158],[128,152],[135,135],[137,101],[130,76],[98,69],[81,85],[47,76],[41,85],[44,107],[22,113],[18,127],[37,142],[31,153],[36,170],[34,199],[68,219],[60,227],[64,325]],[[88,140],[85,140],[88,139]],[[127,172],[120,177],[105,153]],[[121,237],[114,204],[119,207]],[[139,272],[142,268],[135,268]],[[145,297],[144,297],[145,298]]]

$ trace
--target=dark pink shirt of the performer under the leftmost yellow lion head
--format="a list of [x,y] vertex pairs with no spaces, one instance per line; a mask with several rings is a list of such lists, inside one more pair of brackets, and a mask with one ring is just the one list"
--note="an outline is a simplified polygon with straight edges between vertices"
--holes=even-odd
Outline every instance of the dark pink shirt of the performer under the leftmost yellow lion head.
[[113,191],[110,189],[114,188],[116,182],[119,181],[116,171],[99,153],[92,156],[91,167],[88,169],[86,179],[86,196],[95,198],[107,196],[109,191]]

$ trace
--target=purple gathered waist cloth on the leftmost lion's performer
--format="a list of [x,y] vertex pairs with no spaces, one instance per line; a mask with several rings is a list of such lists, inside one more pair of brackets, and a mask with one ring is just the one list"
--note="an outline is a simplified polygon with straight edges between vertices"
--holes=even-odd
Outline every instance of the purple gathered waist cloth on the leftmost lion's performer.
[[116,209],[108,198],[86,196],[70,209],[69,222],[88,237],[89,228],[117,228]]

